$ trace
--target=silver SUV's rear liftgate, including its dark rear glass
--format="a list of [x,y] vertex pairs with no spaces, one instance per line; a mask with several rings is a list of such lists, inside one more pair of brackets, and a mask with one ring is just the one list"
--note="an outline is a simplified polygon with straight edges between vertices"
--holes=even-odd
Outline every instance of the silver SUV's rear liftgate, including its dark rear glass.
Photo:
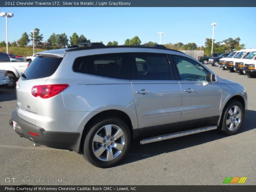
[[48,77],[59,67],[61,61],[62,58],[59,57],[36,57],[25,71],[25,76],[20,77],[16,86],[18,100],[16,110],[21,119],[36,124],[38,97],[31,94],[32,87],[44,85]]

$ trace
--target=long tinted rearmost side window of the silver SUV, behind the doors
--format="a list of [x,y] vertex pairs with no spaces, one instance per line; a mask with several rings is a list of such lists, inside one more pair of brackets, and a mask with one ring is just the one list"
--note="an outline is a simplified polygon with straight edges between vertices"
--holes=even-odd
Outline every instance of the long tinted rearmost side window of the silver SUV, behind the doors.
[[132,54],[113,53],[76,58],[73,71],[116,79],[130,79]]

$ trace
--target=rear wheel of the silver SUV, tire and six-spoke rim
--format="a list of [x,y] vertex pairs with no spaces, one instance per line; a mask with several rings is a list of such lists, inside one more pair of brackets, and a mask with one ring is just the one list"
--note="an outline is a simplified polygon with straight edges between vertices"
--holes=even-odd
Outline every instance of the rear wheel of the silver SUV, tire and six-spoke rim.
[[[118,136],[115,138],[116,133]],[[93,123],[87,133],[84,139],[83,156],[96,167],[112,167],[123,159],[130,143],[131,133],[122,119],[102,118]]]

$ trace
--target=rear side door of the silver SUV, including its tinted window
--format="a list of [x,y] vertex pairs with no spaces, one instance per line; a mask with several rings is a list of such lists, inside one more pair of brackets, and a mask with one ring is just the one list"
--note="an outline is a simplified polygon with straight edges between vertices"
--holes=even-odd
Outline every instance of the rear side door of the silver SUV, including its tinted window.
[[136,53],[134,60],[131,82],[140,134],[170,132],[180,121],[181,90],[168,56]]

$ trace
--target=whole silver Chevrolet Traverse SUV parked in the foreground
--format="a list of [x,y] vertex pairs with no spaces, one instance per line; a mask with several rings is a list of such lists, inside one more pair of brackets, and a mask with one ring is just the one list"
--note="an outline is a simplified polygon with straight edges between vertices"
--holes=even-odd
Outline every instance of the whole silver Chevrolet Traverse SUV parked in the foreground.
[[36,54],[17,89],[11,126],[21,137],[111,167],[140,144],[219,129],[235,134],[243,85],[163,45],[74,45]]

